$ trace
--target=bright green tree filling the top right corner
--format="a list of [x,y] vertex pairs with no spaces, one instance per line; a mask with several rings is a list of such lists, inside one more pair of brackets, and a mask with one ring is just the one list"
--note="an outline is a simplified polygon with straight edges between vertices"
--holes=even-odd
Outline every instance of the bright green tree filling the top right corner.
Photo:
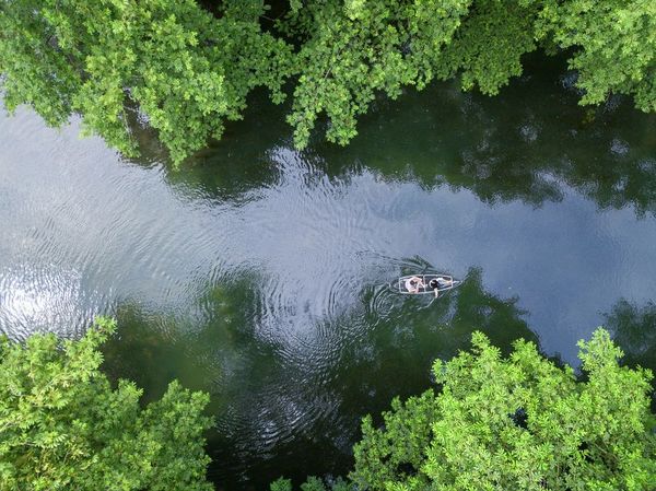
[[525,0],[541,5],[536,37],[573,51],[583,104],[629,94],[656,110],[656,2],[652,0]]

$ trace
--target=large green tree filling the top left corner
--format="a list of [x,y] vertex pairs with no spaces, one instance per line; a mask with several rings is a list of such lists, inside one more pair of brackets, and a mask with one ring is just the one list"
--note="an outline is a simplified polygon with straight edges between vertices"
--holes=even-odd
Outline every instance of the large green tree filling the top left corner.
[[78,113],[87,133],[128,155],[129,109],[179,162],[241,117],[253,87],[279,101],[290,52],[260,31],[254,9],[215,19],[192,0],[0,3],[7,107],[30,104],[54,126]]

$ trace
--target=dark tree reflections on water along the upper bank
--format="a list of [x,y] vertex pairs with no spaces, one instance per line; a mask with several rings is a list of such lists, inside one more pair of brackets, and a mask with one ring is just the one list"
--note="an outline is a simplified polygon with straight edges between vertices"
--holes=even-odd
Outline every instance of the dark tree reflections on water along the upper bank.
[[[331,177],[367,168],[429,188],[469,189],[490,204],[539,207],[561,200],[566,185],[600,209],[654,213],[656,115],[637,113],[620,96],[581,107],[574,82],[563,59],[534,55],[525,75],[495,97],[462,93],[457,82],[409,90],[398,101],[377,101],[347,148],[317,131],[303,159]],[[250,101],[244,121],[189,159],[184,172],[171,172],[172,183],[234,198],[279,177],[276,160],[266,155],[291,147],[283,126],[289,105],[271,106],[263,92]]]

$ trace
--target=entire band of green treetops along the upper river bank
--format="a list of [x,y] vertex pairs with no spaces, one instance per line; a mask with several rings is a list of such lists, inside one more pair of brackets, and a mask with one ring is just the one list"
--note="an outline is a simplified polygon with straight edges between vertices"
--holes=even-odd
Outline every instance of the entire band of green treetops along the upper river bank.
[[80,114],[87,133],[128,155],[130,128],[148,121],[176,163],[220,138],[256,86],[276,103],[293,86],[298,147],[320,116],[327,139],[344,144],[378,93],[459,77],[496,94],[540,47],[570,54],[582,103],[621,93],[656,110],[651,0],[227,0],[215,14],[192,0],[0,4],[10,110],[32,105],[54,126]]

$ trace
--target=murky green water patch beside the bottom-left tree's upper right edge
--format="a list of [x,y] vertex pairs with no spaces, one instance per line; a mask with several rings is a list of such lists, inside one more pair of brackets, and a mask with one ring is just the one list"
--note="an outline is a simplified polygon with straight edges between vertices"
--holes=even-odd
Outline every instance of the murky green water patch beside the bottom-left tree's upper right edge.
[[[189,312],[148,311],[138,303],[116,308],[119,330],[104,347],[105,369],[114,377],[129,378],[145,389],[144,400],[160,398],[177,378],[185,387],[212,394],[211,411],[221,398],[212,390],[225,377],[236,377],[242,359],[251,359],[250,316],[258,300],[244,282],[209,288]],[[238,292],[239,294],[236,294]],[[247,378],[247,377],[246,377]]]

